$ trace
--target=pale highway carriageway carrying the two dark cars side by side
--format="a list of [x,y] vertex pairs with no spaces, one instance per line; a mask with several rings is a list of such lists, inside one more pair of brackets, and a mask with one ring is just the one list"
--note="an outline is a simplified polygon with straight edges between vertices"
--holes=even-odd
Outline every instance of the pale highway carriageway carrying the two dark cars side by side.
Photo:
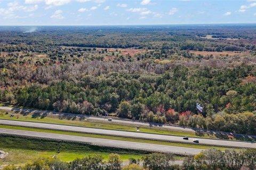
[[[83,128],[83,127],[78,127],[78,126],[35,123],[35,122],[22,122],[22,121],[10,121],[10,120],[0,120],[0,124],[25,126],[25,127],[30,127],[30,128],[41,128],[41,129],[101,134],[101,135],[113,135],[113,136],[117,136],[117,137],[127,137],[127,138],[162,140],[162,141],[182,142],[182,143],[190,143],[190,144],[194,143],[193,142],[194,138],[189,138],[189,140],[183,140],[182,137],[177,137],[177,136],[172,136],[172,135],[149,134],[149,133],[141,133],[141,132],[127,132],[127,131],[106,130],[106,129],[97,129],[97,128]],[[215,140],[215,139],[200,138],[199,143],[202,145],[221,146],[221,147],[256,148],[256,143],[242,142],[242,141],[229,141],[229,140]]]

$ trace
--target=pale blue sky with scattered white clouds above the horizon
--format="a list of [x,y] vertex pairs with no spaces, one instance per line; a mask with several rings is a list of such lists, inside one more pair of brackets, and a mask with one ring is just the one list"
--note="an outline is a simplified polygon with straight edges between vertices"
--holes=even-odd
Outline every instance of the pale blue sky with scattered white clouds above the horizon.
[[0,0],[0,25],[256,23],[256,0]]

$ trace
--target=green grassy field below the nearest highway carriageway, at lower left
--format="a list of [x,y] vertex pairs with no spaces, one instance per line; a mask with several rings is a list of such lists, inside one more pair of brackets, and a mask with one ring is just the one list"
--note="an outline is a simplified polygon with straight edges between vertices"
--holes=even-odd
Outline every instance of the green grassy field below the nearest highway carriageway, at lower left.
[[10,135],[0,135],[0,150],[9,153],[7,157],[0,159],[0,166],[7,164],[23,165],[38,157],[52,157],[54,155],[57,155],[60,160],[71,162],[75,158],[83,158],[91,154],[99,154],[107,159],[110,153],[117,153],[126,162],[130,157],[138,159],[145,154],[149,154],[145,151],[105,148],[85,143],[12,137]]

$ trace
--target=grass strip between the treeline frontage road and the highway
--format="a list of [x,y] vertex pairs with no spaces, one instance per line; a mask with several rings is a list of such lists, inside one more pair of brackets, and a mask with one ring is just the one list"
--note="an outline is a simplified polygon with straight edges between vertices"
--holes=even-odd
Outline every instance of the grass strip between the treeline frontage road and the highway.
[[[17,119],[16,116],[10,117],[10,115],[6,115],[5,111],[0,110],[0,119],[5,120],[19,120],[19,121],[30,121],[30,122],[42,122],[42,123],[55,123],[55,124],[63,124],[63,125],[75,125],[82,126],[88,128],[100,128],[100,129],[110,129],[110,130],[123,130],[123,131],[131,131],[136,132],[136,125],[119,124],[114,122],[106,122],[106,121],[94,121],[89,119],[79,120],[76,117],[68,117],[68,116],[57,116],[57,115],[47,115],[46,117],[42,117],[40,115],[35,114],[23,114],[16,113],[19,115]],[[180,135],[180,136],[188,136],[188,137],[202,137],[202,138],[217,138],[214,134],[201,133],[196,134],[196,132],[188,132],[186,130],[176,131],[176,130],[167,130],[159,127],[148,127],[148,126],[140,126],[140,132],[145,133],[157,133],[157,134],[169,134],[169,135]]]

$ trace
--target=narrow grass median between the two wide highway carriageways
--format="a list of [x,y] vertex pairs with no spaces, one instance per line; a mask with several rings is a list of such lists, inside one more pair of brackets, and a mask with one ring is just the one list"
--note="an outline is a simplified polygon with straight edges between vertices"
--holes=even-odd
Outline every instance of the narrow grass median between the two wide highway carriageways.
[[21,126],[0,125],[0,128],[13,129],[13,130],[35,131],[35,132],[46,132],[46,133],[55,133],[55,134],[67,134],[67,135],[75,135],[75,136],[90,137],[90,138],[101,138],[101,139],[111,139],[111,140],[121,140],[121,141],[131,141],[131,142],[141,142],[141,143],[152,143],[152,144],[158,144],[158,145],[178,146],[178,147],[186,147],[186,148],[197,148],[197,149],[216,148],[216,149],[220,149],[220,150],[227,149],[225,147],[213,147],[213,146],[204,146],[204,145],[196,145],[196,144],[193,145],[193,144],[187,144],[187,143],[175,143],[175,142],[134,139],[134,138],[125,138],[125,137],[113,137],[113,136],[109,136],[109,135],[66,132],[66,131],[58,131],[58,130],[34,129],[34,128],[27,128],[27,127],[21,127]]

